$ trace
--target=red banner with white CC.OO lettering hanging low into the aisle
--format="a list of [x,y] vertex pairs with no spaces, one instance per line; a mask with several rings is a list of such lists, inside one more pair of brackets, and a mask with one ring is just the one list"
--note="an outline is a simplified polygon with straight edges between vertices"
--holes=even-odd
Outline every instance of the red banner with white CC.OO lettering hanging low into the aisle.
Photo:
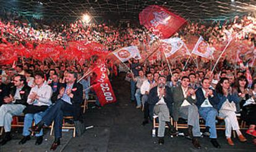
[[107,103],[116,102],[116,96],[114,95],[114,91],[108,79],[108,68],[106,67],[106,64],[101,63],[96,66],[94,72],[96,74],[96,79],[94,81],[96,84],[93,84],[93,89],[100,101],[100,105],[103,106]]

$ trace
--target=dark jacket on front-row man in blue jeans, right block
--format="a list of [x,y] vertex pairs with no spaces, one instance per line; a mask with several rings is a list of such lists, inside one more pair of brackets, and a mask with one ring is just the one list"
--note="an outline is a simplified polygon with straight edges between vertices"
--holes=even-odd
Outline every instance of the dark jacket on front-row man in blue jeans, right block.
[[[203,102],[205,101],[205,95],[203,95],[203,90],[202,88],[197,89],[197,91],[195,92],[195,95],[197,95],[197,107],[198,109],[201,107],[201,105],[203,104]],[[218,97],[217,94],[215,92],[215,90],[213,90],[213,97],[208,97],[209,102],[211,103],[211,105],[217,109],[217,104],[218,104]]]

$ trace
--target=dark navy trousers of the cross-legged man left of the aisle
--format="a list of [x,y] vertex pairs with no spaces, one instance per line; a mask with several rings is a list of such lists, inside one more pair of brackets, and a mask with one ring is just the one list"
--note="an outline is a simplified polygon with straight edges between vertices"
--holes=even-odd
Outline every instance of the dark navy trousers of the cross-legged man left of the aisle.
[[51,108],[48,108],[42,121],[46,126],[51,125],[51,122],[54,121],[54,137],[61,138],[63,116],[72,116],[73,114],[73,106],[59,99]]

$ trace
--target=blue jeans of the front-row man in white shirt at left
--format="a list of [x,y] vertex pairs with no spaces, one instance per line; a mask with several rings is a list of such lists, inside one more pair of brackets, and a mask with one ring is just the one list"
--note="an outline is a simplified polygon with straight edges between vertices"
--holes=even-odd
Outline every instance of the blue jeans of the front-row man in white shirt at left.
[[[40,112],[40,113],[35,113],[35,114],[33,114],[33,113],[25,114],[24,127],[23,127],[23,133],[22,133],[23,136],[30,135],[30,131],[28,129],[32,126],[33,119],[35,120],[35,124],[38,124],[38,122],[41,121],[43,116],[45,116],[46,111]],[[35,134],[36,137],[39,137],[42,135],[43,135],[43,129],[41,129],[39,134]]]

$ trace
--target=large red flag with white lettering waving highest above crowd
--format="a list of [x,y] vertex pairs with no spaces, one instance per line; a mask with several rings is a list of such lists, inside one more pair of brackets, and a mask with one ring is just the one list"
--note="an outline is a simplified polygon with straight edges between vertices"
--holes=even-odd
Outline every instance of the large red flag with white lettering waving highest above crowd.
[[152,5],[142,10],[139,14],[140,24],[148,30],[160,31],[163,38],[169,38],[181,28],[186,20],[163,7]]

